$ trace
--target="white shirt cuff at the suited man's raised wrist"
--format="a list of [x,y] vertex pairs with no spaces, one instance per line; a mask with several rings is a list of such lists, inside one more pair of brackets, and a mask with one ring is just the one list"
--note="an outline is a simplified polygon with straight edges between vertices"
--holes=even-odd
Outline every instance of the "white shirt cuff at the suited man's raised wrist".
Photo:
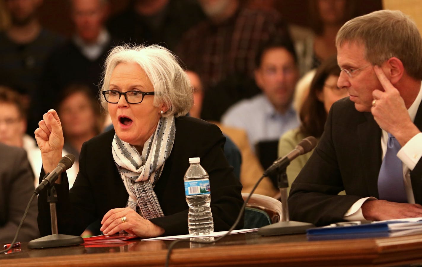
[[422,156],[422,132],[412,137],[398,151],[397,156],[410,170],[413,170]]

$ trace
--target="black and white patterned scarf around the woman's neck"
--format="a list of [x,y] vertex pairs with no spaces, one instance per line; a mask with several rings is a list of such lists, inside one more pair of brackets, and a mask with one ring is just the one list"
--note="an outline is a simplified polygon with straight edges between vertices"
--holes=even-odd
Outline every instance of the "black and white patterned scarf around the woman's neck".
[[175,134],[174,116],[161,117],[154,135],[143,145],[142,155],[134,146],[114,135],[111,150],[129,193],[127,207],[147,220],[164,216],[153,188],[173,148]]

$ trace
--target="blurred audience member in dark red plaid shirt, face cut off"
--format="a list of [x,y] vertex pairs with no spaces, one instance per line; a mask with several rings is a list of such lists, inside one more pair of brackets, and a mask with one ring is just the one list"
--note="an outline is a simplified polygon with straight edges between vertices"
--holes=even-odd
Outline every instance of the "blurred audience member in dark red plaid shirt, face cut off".
[[260,44],[278,36],[290,41],[286,25],[276,11],[251,10],[239,0],[199,0],[208,16],[189,30],[176,54],[195,70],[204,89],[234,74],[253,76]]

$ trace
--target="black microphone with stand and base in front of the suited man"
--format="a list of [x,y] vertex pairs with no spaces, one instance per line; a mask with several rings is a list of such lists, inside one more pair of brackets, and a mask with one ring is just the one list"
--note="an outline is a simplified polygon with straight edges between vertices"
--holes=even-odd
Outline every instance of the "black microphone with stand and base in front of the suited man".
[[278,186],[281,195],[281,221],[275,224],[270,224],[261,227],[258,230],[260,235],[289,235],[299,234],[306,232],[306,229],[314,227],[314,224],[290,221],[289,220],[289,206],[287,205],[287,188],[289,187],[289,181],[287,180],[286,167],[290,162],[300,155],[308,153],[315,146],[317,146],[317,138],[308,136],[307,138],[300,141],[295,149],[289,152],[286,156],[277,159],[267,170],[264,175],[277,174]]

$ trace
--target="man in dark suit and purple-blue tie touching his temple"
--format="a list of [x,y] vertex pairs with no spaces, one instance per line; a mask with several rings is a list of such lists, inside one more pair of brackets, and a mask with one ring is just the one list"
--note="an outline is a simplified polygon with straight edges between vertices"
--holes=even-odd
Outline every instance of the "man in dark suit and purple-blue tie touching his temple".
[[[316,225],[421,217],[417,27],[400,11],[376,11],[346,22],[336,46],[338,87],[350,97],[334,103],[317,148],[292,184],[290,217]],[[342,190],[346,195],[337,195]]]

